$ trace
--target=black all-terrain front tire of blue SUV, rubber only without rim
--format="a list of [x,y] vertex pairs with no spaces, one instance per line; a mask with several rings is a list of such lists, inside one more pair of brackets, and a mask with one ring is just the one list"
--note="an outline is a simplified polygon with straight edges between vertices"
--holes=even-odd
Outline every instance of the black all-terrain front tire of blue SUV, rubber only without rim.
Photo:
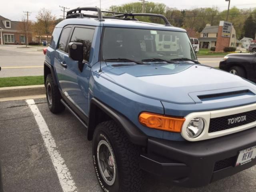
[[[100,173],[97,159],[97,147],[105,140],[113,154],[116,165],[114,184],[108,185]],[[114,121],[98,124],[92,140],[92,155],[96,177],[103,191],[140,192],[144,183],[144,172],[139,166],[140,147],[132,144],[122,129]]]

